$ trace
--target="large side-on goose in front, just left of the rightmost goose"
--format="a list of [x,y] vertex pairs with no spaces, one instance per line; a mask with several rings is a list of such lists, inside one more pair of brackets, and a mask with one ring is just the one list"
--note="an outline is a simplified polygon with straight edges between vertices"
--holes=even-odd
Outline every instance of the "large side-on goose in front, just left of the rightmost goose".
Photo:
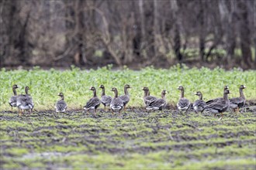
[[202,110],[202,112],[211,113],[214,114],[214,116],[216,116],[216,114],[221,114],[221,119],[223,117],[223,112],[228,110],[230,107],[230,100],[228,100],[229,93],[229,89],[224,90],[223,98],[210,104],[206,104],[206,107]]

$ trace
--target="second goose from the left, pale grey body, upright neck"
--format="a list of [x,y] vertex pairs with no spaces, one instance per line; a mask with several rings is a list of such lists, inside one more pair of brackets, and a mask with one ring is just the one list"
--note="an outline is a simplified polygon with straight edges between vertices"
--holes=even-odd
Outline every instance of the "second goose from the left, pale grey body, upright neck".
[[29,87],[25,87],[25,93],[17,97],[17,107],[19,108],[20,116],[22,115],[22,110],[29,110],[29,114],[31,114],[34,107],[33,99],[29,95]]

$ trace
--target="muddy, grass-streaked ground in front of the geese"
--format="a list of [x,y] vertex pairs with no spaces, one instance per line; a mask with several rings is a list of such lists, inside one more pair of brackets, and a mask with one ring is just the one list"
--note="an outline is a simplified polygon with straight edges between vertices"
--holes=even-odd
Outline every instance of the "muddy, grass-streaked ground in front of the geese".
[[[168,109],[172,108],[171,106]],[[1,169],[255,169],[256,107],[220,115],[69,110],[0,112]]]

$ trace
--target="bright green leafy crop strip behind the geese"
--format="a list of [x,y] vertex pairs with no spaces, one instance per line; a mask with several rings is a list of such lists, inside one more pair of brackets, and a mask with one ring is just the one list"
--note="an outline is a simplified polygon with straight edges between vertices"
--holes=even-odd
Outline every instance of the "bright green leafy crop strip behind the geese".
[[[123,94],[123,86],[129,83],[132,89],[130,92],[130,103],[128,106],[142,107],[144,92],[142,87],[149,87],[150,94],[161,97],[161,90],[168,90],[167,100],[169,104],[175,105],[178,101],[179,90],[177,87],[185,87],[185,97],[194,101],[198,97],[193,95],[195,91],[202,91],[204,100],[223,96],[223,86],[230,87],[230,97],[238,97],[238,87],[244,84],[245,97],[254,100],[256,96],[256,76],[254,70],[241,71],[238,69],[225,71],[220,68],[209,70],[188,69],[186,66],[172,66],[168,70],[156,70],[147,67],[140,71],[111,70],[111,66],[106,66],[98,70],[80,70],[74,66],[71,70],[40,70],[34,67],[33,70],[12,70],[0,71],[1,95],[0,110],[10,110],[9,97],[12,96],[12,85],[18,84],[18,93],[25,93],[24,87],[29,86],[29,93],[33,97],[35,110],[53,110],[54,104],[59,97],[57,93],[63,92],[68,109],[81,109],[92,97],[89,87],[95,86],[100,96],[100,84],[106,87],[106,94],[113,96],[110,91],[112,87],[117,87],[119,94]],[[102,105],[101,105],[102,108]]]

